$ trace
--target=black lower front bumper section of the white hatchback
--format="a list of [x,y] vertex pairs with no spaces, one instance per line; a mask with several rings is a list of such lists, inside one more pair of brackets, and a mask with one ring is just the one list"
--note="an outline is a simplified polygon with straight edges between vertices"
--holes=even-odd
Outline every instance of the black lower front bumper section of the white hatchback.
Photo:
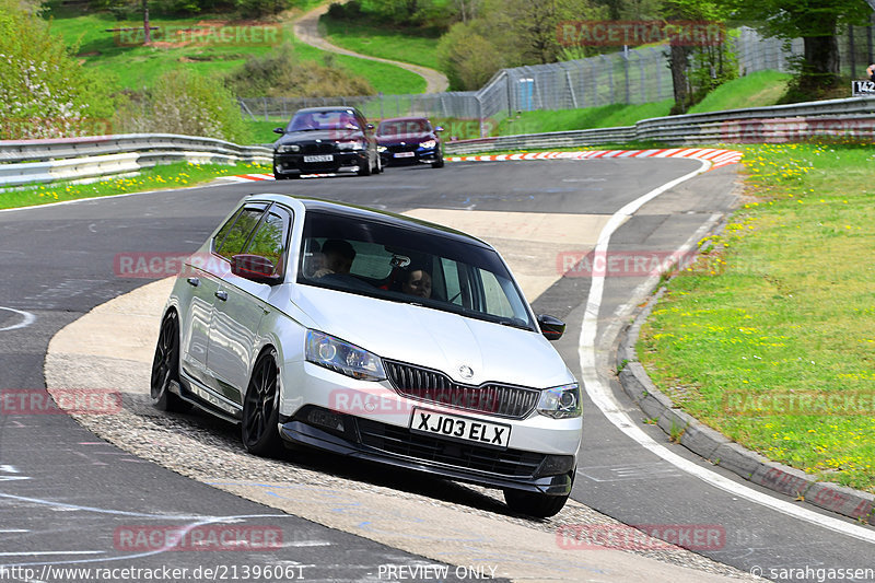
[[[332,424],[338,419],[342,429]],[[313,406],[281,418],[280,435],[293,444],[492,488],[567,495],[574,478],[573,455],[459,444]]]

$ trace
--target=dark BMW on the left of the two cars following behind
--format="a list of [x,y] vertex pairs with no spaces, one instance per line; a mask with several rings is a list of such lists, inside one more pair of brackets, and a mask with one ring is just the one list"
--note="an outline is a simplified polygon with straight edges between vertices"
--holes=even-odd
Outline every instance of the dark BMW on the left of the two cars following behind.
[[374,126],[354,107],[300,109],[289,125],[273,131],[273,177],[355,171],[360,176],[383,171]]

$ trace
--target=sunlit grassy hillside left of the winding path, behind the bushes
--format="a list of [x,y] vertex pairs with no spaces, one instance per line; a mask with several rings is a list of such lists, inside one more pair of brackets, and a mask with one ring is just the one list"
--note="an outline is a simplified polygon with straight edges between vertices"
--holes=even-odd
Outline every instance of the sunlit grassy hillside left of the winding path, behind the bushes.
[[[294,39],[290,22],[243,27],[241,31],[245,33],[240,37],[234,35],[224,42],[220,36],[214,36],[201,46],[165,45],[161,43],[161,33],[158,33],[158,45],[144,47],[136,44],[138,38],[132,36],[133,33],[106,32],[106,28],[142,26],[142,21],[117,21],[108,13],[82,15],[61,9],[57,9],[51,16],[51,30],[69,45],[79,46],[78,55],[85,67],[112,74],[120,88],[130,90],[148,88],[162,73],[183,68],[202,74],[226,73],[243,65],[247,57],[265,55],[283,42],[291,42],[302,60],[323,61],[327,55],[331,55]],[[153,26],[171,31],[208,20],[224,19],[214,14],[197,19],[156,16],[150,22]],[[364,77],[376,91],[386,94],[419,93],[425,89],[425,81],[421,77],[393,65],[339,55],[329,58],[348,71]]]

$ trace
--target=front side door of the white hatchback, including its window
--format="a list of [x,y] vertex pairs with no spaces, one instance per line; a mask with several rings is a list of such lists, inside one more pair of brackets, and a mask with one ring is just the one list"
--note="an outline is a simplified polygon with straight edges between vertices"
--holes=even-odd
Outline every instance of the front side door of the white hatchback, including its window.
[[[267,257],[277,266],[275,273],[283,275],[291,224],[291,212],[273,205],[245,245],[226,248],[222,255],[229,261],[240,253]],[[217,292],[207,365],[217,389],[236,404],[243,403],[249,382],[261,318],[270,313],[269,293],[270,285],[231,272],[222,279]]]

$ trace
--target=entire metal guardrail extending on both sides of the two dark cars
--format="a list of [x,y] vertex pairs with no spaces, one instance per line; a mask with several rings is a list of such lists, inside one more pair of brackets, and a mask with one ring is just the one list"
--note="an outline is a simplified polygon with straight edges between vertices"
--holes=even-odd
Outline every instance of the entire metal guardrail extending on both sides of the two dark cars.
[[[633,141],[666,145],[782,143],[817,137],[875,141],[875,97],[656,117],[619,128],[448,141],[446,153],[583,148]],[[165,133],[0,141],[0,186],[130,174],[176,161],[270,163],[271,150]]]

